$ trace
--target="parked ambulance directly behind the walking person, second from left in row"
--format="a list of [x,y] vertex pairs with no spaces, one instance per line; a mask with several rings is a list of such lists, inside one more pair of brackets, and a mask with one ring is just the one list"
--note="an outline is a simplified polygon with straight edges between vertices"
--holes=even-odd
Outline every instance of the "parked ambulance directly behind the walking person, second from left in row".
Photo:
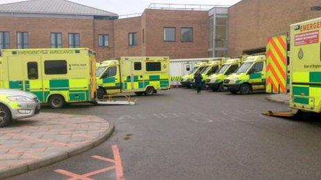
[[[202,74],[203,77],[203,87],[205,87],[205,79],[207,79],[210,75],[214,74],[221,68],[221,64],[225,61],[225,59],[210,61],[206,64],[206,66],[199,73]],[[191,81],[192,88],[196,88],[195,79]]]

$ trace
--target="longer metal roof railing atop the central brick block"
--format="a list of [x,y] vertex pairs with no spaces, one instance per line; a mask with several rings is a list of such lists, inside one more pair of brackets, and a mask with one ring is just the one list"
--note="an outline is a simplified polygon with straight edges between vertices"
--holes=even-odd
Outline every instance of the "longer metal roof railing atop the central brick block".
[[181,3],[151,3],[149,9],[160,10],[210,10],[212,8],[229,8],[228,5],[181,4]]

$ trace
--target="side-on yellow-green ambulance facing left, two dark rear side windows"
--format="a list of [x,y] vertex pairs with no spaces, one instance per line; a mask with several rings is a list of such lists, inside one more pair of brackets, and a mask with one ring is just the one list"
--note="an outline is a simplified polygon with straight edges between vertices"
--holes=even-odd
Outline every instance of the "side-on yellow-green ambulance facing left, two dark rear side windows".
[[169,57],[120,57],[102,62],[96,72],[98,98],[135,92],[152,95],[170,86]]

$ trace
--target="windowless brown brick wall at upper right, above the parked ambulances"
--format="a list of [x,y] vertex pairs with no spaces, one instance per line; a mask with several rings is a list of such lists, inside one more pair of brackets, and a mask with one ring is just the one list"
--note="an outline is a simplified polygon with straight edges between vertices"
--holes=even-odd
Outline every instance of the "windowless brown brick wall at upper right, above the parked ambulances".
[[265,52],[266,40],[289,33],[290,25],[321,17],[320,0],[243,0],[229,8],[230,56]]

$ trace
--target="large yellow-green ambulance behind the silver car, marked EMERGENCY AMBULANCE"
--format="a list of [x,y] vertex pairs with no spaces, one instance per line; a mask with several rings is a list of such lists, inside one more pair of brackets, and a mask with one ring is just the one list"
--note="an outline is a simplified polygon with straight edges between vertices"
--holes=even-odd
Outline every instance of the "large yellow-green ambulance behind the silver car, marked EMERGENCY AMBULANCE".
[[52,108],[95,101],[95,63],[88,48],[1,50],[0,88],[32,92]]

